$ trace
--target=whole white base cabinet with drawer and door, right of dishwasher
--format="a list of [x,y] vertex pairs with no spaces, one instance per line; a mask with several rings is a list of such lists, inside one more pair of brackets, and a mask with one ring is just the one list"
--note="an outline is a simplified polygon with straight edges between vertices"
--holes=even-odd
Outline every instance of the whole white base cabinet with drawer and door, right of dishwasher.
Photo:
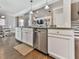
[[57,59],[75,59],[74,42],[73,30],[48,30],[48,53]]

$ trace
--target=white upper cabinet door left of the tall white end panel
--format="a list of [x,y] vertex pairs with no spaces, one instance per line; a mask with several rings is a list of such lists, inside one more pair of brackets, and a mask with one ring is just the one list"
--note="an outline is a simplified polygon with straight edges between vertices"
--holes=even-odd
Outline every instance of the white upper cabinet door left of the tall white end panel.
[[53,24],[56,25],[56,27],[65,27],[63,16],[63,8],[53,10]]

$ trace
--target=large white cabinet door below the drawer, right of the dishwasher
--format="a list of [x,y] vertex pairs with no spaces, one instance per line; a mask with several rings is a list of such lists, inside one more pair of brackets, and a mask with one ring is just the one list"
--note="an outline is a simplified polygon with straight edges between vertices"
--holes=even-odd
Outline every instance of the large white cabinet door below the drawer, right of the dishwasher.
[[68,59],[69,40],[61,37],[57,38],[57,37],[49,36],[48,53],[57,56],[59,59]]

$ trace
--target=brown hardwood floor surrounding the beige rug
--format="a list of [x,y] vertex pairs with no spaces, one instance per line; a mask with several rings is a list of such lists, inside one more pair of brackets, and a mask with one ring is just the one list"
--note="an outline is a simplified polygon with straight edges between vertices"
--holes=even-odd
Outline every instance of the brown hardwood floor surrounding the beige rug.
[[20,44],[12,37],[0,38],[0,59],[53,59],[36,50],[26,56],[19,54],[13,47]]

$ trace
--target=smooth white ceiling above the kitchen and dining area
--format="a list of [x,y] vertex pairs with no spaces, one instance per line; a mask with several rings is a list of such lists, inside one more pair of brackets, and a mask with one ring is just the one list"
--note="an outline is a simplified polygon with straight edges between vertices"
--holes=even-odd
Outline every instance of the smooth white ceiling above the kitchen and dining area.
[[[45,5],[46,0],[33,0],[33,7]],[[48,0],[48,2],[57,0]],[[30,0],[0,0],[0,14],[19,14],[30,10]]]

